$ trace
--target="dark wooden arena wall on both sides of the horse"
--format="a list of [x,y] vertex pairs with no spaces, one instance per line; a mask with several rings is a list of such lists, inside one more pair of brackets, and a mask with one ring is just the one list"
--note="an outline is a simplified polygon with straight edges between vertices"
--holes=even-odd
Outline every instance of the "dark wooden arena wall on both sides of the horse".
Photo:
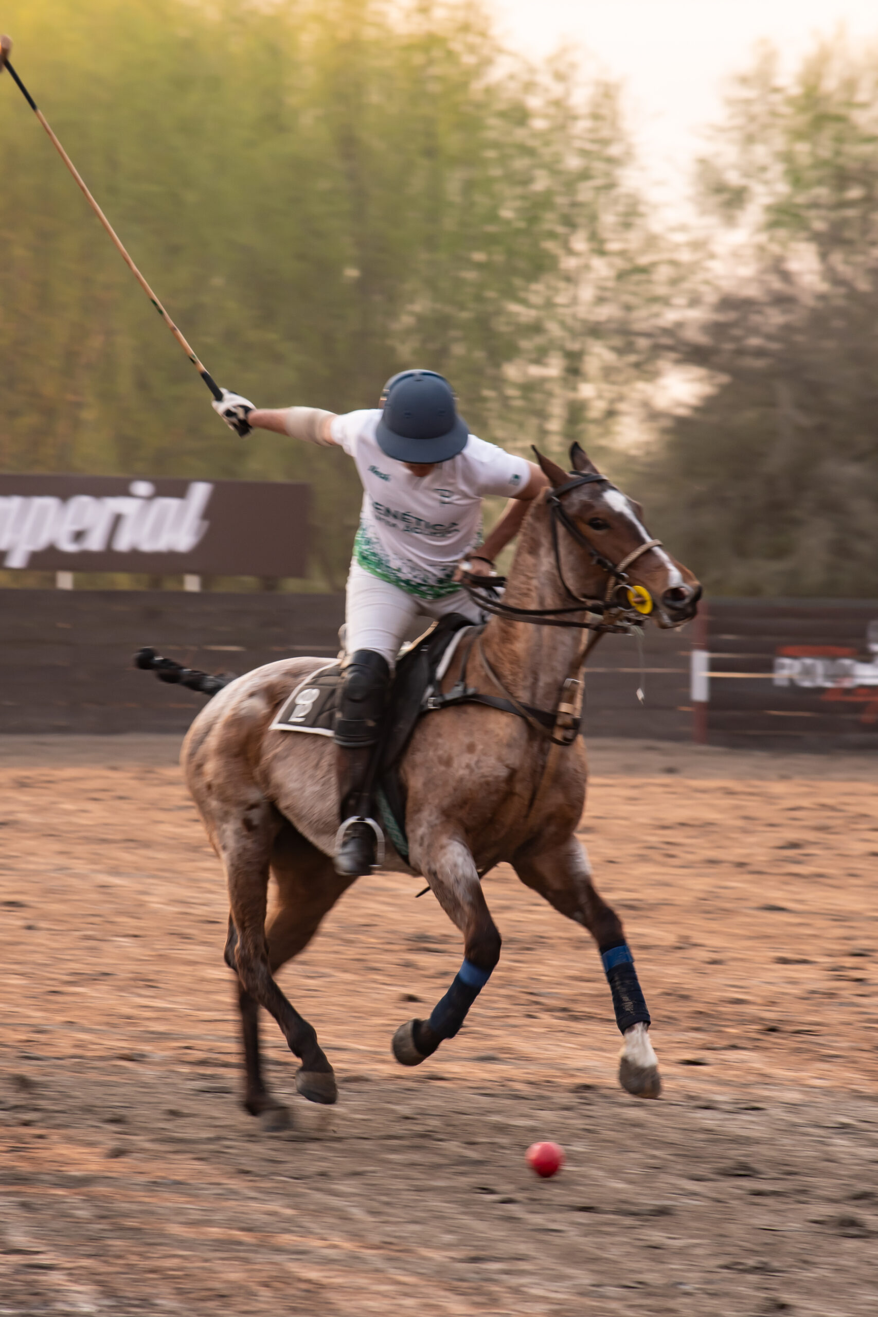
[[[184,732],[203,697],[137,672],[141,645],[242,673],[334,655],[342,619],[342,595],[0,590],[0,732]],[[587,735],[878,749],[877,601],[711,599],[642,639],[645,706],[636,640],[606,636]]]

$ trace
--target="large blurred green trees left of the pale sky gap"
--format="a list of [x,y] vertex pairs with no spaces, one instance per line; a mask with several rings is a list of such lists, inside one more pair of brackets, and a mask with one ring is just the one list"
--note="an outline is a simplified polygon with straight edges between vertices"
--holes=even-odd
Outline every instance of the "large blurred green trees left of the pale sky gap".
[[[661,283],[612,87],[512,58],[467,3],[11,0],[4,22],[221,383],[345,411],[425,365],[487,439],[611,443]],[[338,583],[353,464],[221,425],[8,78],[0,161],[3,466],[311,479]]]

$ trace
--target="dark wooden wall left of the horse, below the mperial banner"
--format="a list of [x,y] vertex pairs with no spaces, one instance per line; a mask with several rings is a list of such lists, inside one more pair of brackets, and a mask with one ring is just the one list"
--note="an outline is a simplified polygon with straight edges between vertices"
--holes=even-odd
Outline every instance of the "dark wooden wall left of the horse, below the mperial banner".
[[1,590],[0,732],[186,732],[204,697],[138,672],[142,645],[205,672],[338,651],[344,595]]

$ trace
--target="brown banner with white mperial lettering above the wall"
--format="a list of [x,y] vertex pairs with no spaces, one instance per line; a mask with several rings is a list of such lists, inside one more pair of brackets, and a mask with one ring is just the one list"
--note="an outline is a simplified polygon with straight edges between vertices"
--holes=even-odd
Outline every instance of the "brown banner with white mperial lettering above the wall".
[[309,486],[0,475],[0,566],[301,577]]

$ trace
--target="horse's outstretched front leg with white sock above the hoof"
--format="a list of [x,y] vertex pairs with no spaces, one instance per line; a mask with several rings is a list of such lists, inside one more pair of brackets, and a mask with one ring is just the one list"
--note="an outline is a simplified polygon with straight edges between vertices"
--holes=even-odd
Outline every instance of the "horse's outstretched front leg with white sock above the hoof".
[[583,925],[598,943],[616,1023],[624,1038],[619,1083],[636,1097],[658,1097],[662,1081],[649,1039],[649,1011],[637,981],[634,957],[616,911],[595,892],[584,847],[575,836],[538,856],[516,857],[515,871],[555,910]]

